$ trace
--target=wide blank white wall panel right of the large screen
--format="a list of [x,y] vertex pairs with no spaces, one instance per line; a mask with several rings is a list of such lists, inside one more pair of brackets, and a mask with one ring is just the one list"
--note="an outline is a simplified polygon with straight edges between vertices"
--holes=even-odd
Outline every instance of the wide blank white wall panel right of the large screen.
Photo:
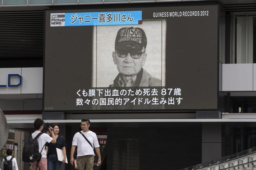
[[222,91],[253,91],[253,64],[222,64]]

